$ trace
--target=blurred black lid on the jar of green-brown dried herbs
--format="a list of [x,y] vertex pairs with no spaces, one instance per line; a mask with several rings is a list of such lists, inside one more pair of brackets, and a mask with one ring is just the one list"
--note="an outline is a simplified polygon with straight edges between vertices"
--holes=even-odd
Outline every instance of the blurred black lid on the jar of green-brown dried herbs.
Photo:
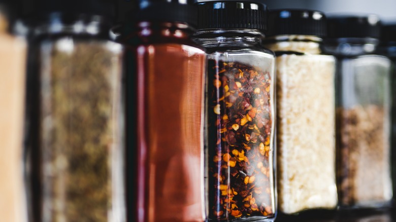
[[36,0],[36,16],[47,18],[48,15],[60,13],[64,15],[100,15],[109,19],[115,17],[113,0]]

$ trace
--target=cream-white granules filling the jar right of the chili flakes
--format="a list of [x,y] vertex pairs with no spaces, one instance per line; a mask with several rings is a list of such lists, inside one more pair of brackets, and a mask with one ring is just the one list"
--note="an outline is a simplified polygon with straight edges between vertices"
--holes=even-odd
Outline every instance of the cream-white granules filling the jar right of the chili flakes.
[[337,205],[334,73],[333,56],[277,57],[278,200],[284,213]]

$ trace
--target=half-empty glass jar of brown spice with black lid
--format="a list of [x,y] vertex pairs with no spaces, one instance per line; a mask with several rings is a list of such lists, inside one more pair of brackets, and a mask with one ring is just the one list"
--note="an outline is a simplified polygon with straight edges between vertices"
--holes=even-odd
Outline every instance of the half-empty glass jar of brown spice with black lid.
[[391,62],[375,55],[379,18],[328,19],[325,50],[337,57],[337,186],[341,207],[377,207],[392,197],[390,133]]

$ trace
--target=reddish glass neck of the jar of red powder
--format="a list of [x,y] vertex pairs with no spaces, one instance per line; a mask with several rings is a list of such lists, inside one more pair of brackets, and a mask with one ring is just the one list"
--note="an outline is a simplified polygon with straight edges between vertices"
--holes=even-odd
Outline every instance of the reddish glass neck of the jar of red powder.
[[194,28],[183,22],[141,21],[136,24],[124,24],[118,39],[120,42],[169,43],[191,42]]

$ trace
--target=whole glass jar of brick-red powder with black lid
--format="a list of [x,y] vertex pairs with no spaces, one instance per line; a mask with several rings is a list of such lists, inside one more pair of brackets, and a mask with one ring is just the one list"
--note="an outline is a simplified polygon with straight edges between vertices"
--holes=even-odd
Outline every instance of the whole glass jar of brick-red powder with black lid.
[[126,46],[128,219],[204,221],[205,53],[191,40],[196,8],[137,3],[118,38]]

